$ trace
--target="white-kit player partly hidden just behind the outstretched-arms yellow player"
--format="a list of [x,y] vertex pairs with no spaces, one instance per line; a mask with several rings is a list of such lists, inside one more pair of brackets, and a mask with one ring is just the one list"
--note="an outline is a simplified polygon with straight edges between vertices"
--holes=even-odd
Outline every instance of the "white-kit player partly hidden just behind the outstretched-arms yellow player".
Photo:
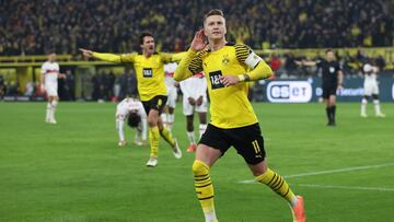
[[164,73],[165,73],[165,86],[167,89],[167,102],[165,104],[163,114],[161,118],[163,120],[164,126],[169,128],[171,131],[174,121],[175,121],[175,107],[176,107],[176,98],[177,98],[177,86],[178,83],[174,80],[174,72],[177,67],[176,62],[171,62],[164,65]]

